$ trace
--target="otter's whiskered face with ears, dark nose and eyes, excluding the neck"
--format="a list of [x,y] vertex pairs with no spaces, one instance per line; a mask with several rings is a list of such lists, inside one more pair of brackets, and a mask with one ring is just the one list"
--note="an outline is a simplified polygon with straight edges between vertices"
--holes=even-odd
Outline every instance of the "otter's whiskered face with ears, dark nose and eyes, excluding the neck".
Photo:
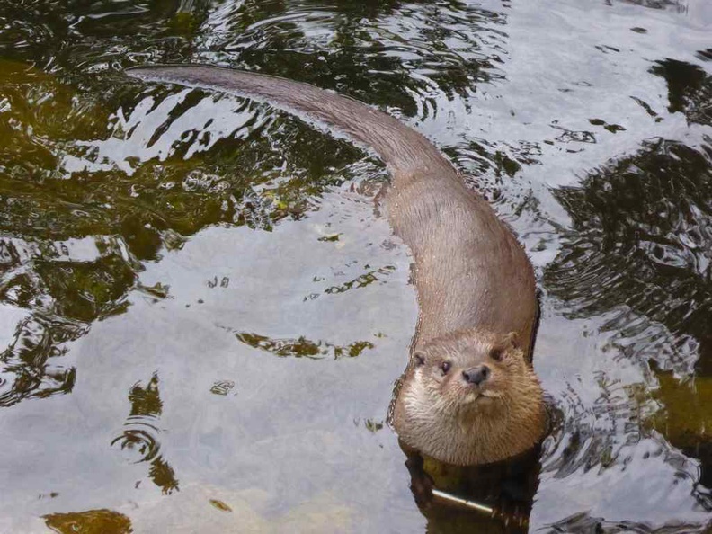
[[461,333],[432,340],[415,348],[410,372],[432,408],[460,415],[502,410],[533,374],[514,333]]

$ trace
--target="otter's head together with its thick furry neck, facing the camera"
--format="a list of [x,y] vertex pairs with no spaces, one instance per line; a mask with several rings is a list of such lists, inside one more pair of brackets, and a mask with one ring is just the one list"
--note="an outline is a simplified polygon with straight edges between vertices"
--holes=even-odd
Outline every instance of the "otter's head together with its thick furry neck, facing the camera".
[[490,463],[541,438],[543,392],[516,334],[447,334],[414,348],[393,424],[427,456],[456,465]]

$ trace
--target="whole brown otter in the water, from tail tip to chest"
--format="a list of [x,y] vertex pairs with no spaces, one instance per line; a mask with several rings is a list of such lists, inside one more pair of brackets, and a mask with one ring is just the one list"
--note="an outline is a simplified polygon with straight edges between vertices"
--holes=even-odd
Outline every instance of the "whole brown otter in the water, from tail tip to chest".
[[413,254],[419,306],[392,407],[396,432],[407,446],[454,465],[511,458],[538,443],[545,409],[531,368],[538,313],[531,263],[428,139],[362,102],[276,76],[203,65],[127,73],[268,102],[373,149],[391,174],[381,202]]

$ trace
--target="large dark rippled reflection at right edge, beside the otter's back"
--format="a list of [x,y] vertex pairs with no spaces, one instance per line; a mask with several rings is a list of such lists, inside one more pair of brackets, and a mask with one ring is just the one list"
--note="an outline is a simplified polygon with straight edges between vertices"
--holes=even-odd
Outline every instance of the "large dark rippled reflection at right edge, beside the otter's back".
[[655,140],[555,191],[573,225],[545,273],[566,314],[615,312],[605,327],[628,358],[700,376],[712,372],[710,158]]

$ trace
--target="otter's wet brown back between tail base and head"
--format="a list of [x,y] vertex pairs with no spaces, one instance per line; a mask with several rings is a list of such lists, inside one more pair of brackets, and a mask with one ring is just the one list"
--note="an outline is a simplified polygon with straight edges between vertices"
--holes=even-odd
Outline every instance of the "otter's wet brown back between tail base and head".
[[413,177],[385,202],[391,226],[414,255],[420,307],[414,345],[472,328],[530,339],[537,314],[530,262],[454,169]]

